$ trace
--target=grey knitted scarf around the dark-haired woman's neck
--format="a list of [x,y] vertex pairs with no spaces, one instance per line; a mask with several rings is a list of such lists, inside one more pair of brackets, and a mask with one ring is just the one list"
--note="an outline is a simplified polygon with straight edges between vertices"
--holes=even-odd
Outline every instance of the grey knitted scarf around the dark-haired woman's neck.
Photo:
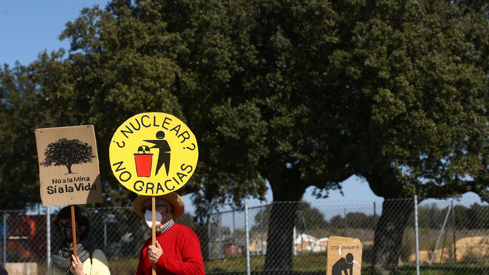
[[[77,243],[76,254],[80,258],[80,261],[84,263],[96,247],[95,237],[92,235],[86,236],[80,243]],[[62,242],[56,248],[56,252],[52,255],[51,259],[59,269],[66,270],[66,274],[71,275],[72,273],[69,271],[69,268],[71,267],[72,254],[73,249],[67,249],[65,243]]]

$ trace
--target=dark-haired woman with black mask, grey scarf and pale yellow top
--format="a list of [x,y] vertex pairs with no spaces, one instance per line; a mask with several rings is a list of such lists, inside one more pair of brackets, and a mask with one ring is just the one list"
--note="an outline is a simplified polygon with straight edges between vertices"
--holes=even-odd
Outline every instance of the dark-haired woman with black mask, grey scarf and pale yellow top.
[[73,255],[71,207],[67,206],[56,215],[62,242],[51,257],[47,275],[110,275],[107,258],[96,249],[95,238],[89,235],[89,212],[78,205],[74,206],[74,211],[77,257]]

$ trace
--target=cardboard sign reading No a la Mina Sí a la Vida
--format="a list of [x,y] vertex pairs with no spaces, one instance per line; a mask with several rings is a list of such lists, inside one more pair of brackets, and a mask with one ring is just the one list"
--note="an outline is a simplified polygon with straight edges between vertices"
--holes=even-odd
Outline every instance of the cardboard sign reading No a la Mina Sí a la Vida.
[[43,206],[102,202],[93,125],[36,129]]

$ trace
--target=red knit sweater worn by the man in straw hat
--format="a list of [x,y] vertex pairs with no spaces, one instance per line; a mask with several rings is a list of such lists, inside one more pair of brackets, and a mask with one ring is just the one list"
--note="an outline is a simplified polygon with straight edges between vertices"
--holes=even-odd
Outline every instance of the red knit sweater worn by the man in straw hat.
[[[200,241],[188,226],[174,223],[169,230],[156,234],[156,240],[163,250],[156,262],[156,275],[204,274]],[[151,237],[144,242],[139,254],[136,275],[152,275],[153,264],[147,254],[151,244]]]

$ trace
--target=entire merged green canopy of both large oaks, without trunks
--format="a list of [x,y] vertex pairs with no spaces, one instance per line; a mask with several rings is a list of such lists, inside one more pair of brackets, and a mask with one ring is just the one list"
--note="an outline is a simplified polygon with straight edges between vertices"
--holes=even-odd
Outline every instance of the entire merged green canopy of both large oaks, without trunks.
[[[445,1],[113,1],[68,22],[69,58],[33,72],[63,123],[96,124],[103,144],[135,112],[187,121],[200,202],[263,198],[264,180],[298,200],[353,174],[409,196],[481,171],[485,23]],[[402,183],[382,193],[376,175]]]

